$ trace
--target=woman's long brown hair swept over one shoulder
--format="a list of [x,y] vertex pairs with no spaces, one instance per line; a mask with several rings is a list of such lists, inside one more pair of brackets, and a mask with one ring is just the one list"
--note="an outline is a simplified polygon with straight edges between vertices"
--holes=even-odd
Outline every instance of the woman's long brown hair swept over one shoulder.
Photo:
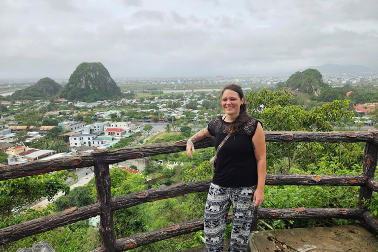
[[[235,85],[235,84],[230,84],[230,85],[227,85],[223,88],[221,95],[219,95],[220,99],[222,98],[224,91],[226,91],[227,89],[235,91],[236,93],[238,93],[240,99],[244,98],[244,93],[243,93],[242,87]],[[249,118],[250,118],[250,116],[247,113],[247,104],[246,104],[246,101],[244,100],[243,104],[240,105],[239,116],[227,128],[227,131],[230,134],[230,136],[236,135],[242,129],[242,127],[245,125],[245,123],[247,123]],[[232,133],[230,133],[230,132],[232,132]]]

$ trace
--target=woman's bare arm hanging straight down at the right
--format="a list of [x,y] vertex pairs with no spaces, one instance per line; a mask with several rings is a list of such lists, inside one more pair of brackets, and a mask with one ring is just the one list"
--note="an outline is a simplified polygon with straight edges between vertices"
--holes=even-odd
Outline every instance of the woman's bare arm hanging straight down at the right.
[[264,200],[264,186],[266,177],[265,134],[260,123],[257,123],[256,131],[252,137],[252,146],[254,156],[257,160],[257,189],[253,195],[253,200],[255,202],[254,206],[257,207],[261,205],[262,201]]

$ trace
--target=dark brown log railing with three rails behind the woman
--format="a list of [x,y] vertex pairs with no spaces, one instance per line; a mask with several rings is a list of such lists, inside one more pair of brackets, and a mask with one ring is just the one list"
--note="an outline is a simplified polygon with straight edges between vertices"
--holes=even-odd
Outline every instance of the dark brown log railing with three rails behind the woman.
[[[269,142],[366,142],[363,171],[360,175],[298,175],[298,174],[268,174],[266,185],[291,186],[359,186],[360,194],[357,208],[295,208],[273,209],[258,208],[258,219],[358,219],[371,231],[378,231],[378,220],[363,205],[363,200],[371,199],[373,191],[378,192],[378,181],[374,175],[378,158],[378,131],[367,132],[294,132],[267,131],[266,141]],[[212,138],[195,144],[195,147],[213,147]],[[187,234],[203,229],[203,220],[177,223],[157,230],[136,234],[116,240],[113,226],[113,213],[145,202],[156,201],[184,195],[192,192],[207,191],[210,180],[193,183],[180,183],[171,187],[149,189],[111,198],[111,179],[109,164],[127,159],[143,158],[158,154],[168,154],[185,151],[186,140],[162,144],[142,145],[122,148],[115,151],[95,150],[91,154],[83,154],[70,158],[56,158],[46,161],[33,161],[24,164],[7,165],[0,169],[0,181],[25,176],[44,174],[52,171],[95,167],[95,183],[97,203],[81,208],[73,207],[61,213],[44,218],[26,221],[17,225],[0,229],[0,245],[10,243],[34,234],[46,232],[54,228],[87,220],[100,215],[99,232],[102,245],[95,252],[119,252],[151,244],[170,237]],[[230,221],[232,214],[229,214]],[[255,220],[256,221],[256,220]],[[256,227],[256,222],[253,223]]]

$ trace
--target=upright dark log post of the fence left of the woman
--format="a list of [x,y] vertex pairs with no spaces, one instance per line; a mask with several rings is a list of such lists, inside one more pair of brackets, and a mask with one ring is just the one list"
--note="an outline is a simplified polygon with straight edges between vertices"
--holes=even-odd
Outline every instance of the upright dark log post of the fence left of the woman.
[[[97,200],[100,203],[100,236],[102,241],[102,248],[106,252],[116,252],[116,236],[114,234],[113,210],[112,210],[112,193],[111,193],[111,178],[109,172],[109,164],[104,163],[101,156],[104,152],[109,152],[106,149],[95,150],[93,152],[95,161],[95,182],[97,189]],[[98,155],[102,154],[102,155]],[[96,155],[98,155],[96,157]]]

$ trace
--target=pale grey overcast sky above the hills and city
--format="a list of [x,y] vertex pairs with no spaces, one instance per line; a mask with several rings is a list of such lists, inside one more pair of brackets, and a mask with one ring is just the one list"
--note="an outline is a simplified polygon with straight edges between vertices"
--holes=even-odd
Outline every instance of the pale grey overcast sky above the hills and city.
[[378,67],[378,0],[0,0],[0,79]]

